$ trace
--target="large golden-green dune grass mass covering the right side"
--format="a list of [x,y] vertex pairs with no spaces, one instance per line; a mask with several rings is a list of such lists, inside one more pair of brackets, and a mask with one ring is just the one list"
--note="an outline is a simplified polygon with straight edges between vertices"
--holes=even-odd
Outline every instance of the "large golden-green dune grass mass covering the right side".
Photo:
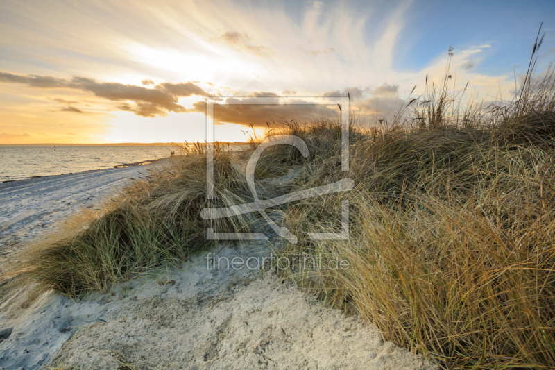
[[446,368],[554,369],[555,78],[531,73],[486,109],[461,104],[446,74],[388,126],[352,130],[348,173],[339,123],[291,124],[284,133],[312,155],[271,153],[303,164],[287,187],[352,178],[355,189],[300,201],[285,219],[296,235],[337,232],[348,200],[350,239],[304,237],[282,252],[350,268],[289,276]]

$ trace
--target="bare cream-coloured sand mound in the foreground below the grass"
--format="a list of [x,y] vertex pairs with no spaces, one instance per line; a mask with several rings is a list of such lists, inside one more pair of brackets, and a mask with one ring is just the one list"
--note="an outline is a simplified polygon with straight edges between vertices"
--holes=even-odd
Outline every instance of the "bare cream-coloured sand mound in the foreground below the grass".
[[[124,367],[125,365],[129,367]],[[51,367],[84,369],[432,369],[375,328],[275,275],[241,281],[216,300],[129,304],[81,326]]]

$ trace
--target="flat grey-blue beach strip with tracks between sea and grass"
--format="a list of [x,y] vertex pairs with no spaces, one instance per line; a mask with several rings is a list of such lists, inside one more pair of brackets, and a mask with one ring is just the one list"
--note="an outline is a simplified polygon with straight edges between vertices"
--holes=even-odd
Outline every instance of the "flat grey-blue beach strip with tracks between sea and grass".
[[161,163],[0,183],[0,274],[17,244],[56,227],[82,207],[98,205],[129,178]]

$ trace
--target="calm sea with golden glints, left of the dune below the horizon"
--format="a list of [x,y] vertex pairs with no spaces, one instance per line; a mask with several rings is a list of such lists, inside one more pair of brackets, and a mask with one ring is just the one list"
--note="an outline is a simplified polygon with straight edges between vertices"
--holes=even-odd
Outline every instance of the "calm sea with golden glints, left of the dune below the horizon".
[[174,146],[0,146],[0,182],[169,157]]

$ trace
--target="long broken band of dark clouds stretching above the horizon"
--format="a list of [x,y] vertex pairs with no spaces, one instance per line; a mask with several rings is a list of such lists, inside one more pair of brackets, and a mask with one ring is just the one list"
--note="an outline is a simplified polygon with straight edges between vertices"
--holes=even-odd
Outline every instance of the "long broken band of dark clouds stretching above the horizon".
[[[80,90],[92,93],[108,101],[117,102],[117,109],[133,112],[135,115],[142,117],[164,116],[168,115],[169,112],[205,113],[205,101],[197,101],[193,104],[193,108],[188,109],[178,104],[178,99],[183,96],[209,96],[216,98],[216,96],[208,94],[201,87],[191,82],[155,84],[152,80],[148,79],[141,82],[143,86],[101,82],[85,77],[66,79],[53,76],[20,76],[0,72],[0,83],[18,83],[40,89],[65,88]],[[152,87],[145,87],[145,85]],[[286,92],[295,94],[292,91]],[[363,100],[366,92],[373,94],[373,97]],[[381,106],[391,106],[398,103],[398,85],[388,84],[381,85],[375,90],[348,87],[343,90],[326,92],[323,96],[347,96],[348,94],[352,101],[361,101],[363,105],[369,107],[375,107],[377,103],[379,103],[380,108]],[[216,106],[214,109],[216,123],[253,124],[254,126],[261,127],[266,126],[266,122],[270,124],[275,122],[275,127],[278,126],[278,121],[290,121],[291,119],[310,121],[311,119],[320,119],[322,117],[337,117],[339,113],[336,106],[279,104],[279,96],[273,92],[253,92],[250,96],[252,96],[250,99],[260,96],[275,98],[275,102],[268,105],[259,105],[255,104],[254,101],[250,101],[249,98],[240,100],[238,98],[219,98],[222,101],[225,100],[226,103],[235,102],[236,104]],[[64,99],[53,100],[67,105],[67,108],[61,109],[62,111],[83,113],[83,110],[71,106],[71,103],[76,103],[75,101],[66,101]],[[298,98],[298,100],[302,102],[302,98]],[[237,104],[239,102],[240,104]]]

